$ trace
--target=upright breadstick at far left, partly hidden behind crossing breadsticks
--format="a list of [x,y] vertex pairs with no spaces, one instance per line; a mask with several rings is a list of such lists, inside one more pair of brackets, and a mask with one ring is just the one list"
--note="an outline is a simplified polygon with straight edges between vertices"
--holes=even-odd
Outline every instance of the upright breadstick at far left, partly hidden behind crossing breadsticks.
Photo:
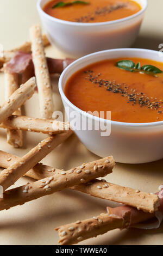
[[[15,90],[18,89],[18,75],[9,74],[4,70],[4,79],[5,79],[5,100],[11,96]],[[21,108],[18,108],[15,112],[15,115],[21,115]],[[22,131],[17,130],[7,130],[7,142],[12,145],[14,148],[22,147],[23,145],[23,133]]]

